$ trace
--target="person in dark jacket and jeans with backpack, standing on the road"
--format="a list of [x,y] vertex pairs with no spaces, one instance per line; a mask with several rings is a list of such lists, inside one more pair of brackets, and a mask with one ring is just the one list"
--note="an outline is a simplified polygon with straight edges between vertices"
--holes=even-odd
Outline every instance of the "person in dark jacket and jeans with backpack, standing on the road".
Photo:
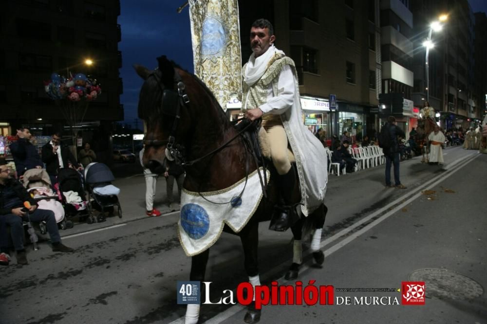
[[[405,137],[404,131],[396,126],[394,116],[387,118],[387,123],[382,126],[379,133],[379,146],[386,157],[386,187],[396,187],[398,189],[406,189],[406,186],[399,180],[399,142],[397,136]],[[394,165],[394,182],[391,184],[391,163]]]

